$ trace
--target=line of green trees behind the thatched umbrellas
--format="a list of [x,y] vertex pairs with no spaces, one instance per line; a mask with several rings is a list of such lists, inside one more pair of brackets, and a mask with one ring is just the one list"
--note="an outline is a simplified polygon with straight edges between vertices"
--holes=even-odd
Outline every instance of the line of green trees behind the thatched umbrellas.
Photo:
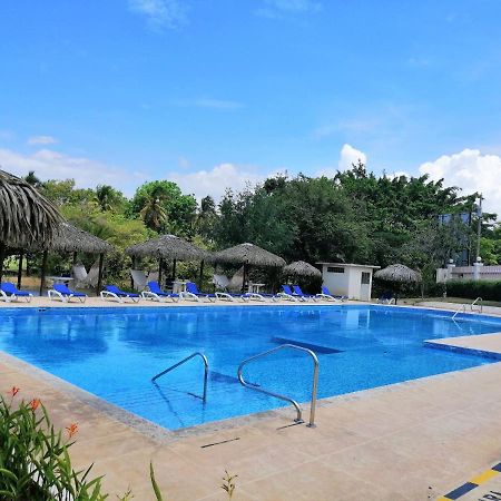
[[[76,226],[117,248],[110,273],[129,264],[121,250],[157,234],[171,233],[208,249],[243,242],[259,245],[287,262],[356,262],[419,268],[429,283],[438,266],[477,248],[475,200],[443,180],[376,176],[358,161],[334,177],[276,176],[242,191],[227,189],[216,203],[199,203],[173,181],[145,183],[131,198],[112,186],[77,188],[72,179],[26,179]],[[448,224],[439,216],[451,215]],[[471,224],[459,217],[473,214]],[[501,229],[495,215],[482,216],[481,255],[501,264]]]

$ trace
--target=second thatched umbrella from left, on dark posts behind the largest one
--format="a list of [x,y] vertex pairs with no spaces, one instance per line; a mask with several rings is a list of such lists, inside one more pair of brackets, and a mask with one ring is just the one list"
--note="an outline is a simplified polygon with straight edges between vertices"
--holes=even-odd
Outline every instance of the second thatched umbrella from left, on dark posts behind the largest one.
[[[110,252],[112,246],[101,238],[92,235],[84,229],[77,228],[69,223],[61,223],[58,226],[53,238],[49,243],[43,243],[41,245],[33,245],[30,247],[31,252],[42,250],[42,266],[41,266],[41,278],[40,278],[40,295],[43,292],[46,285],[46,269],[47,269],[47,257],[50,250],[72,253],[73,254],[73,265],[77,262],[77,253],[87,254],[98,254],[99,255],[99,278],[97,284],[97,292],[101,288],[102,281],[102,266],[105,261],[105,254]],[[22,266],[22,254],[19,259],[19,272],[18,272],[18,284],[20,286],[20,269]]]

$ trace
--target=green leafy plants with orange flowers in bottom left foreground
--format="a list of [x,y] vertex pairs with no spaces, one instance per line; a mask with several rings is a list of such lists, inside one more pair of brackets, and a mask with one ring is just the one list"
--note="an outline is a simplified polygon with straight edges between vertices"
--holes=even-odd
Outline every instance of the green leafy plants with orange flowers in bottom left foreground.
[[[13,386],[9,397],[0,395],[0,500],[2,501],[102,501],[101,477],[91,479],[90,465],[76,471],[71,465],[69,448],[78,433],[78,424],[71,423],[66,433],[56,431],[46,407],[39,399],[29,403],[18,401],[19,389]],[[149,464],[153,492],[157,501],[164,501]],[[227,471],[222,489],[230,500],[235,492],[235,479]],[[134,499],[129,489],[119,501]],[[167,500],[166,500],[167,501]]]

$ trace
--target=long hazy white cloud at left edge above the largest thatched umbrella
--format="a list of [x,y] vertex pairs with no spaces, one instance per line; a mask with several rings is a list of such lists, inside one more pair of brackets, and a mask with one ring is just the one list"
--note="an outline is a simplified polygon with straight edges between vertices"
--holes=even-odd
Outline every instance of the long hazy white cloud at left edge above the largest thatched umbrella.
[[72,157],[52,149],[23,155],[0,148],[0,168],[17,176],[35,170],[41,179],[75,179],[77,186],[82,188],[109,184],[126,195],[134,194],[137,185],[146,180],[146,175],[141,173],[129,174],[91,158]]

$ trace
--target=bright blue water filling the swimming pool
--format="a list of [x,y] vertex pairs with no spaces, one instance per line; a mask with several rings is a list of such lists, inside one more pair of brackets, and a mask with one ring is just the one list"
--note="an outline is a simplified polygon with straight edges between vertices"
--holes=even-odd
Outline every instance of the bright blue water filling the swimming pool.
[[[492,363],[423,346],[438,337],[501,331],[501,320],[380,306],[3,308],[0,350],[169,429],[275,409],[283,402],[243,387],[238,364],[284,343],[312,347],[318,396],[332,396]],[[200,351],[151,384],[153,375]],[[245,377],[299,402],[310,399],[312,361],[282,351],[249,364]],[[291,412],[293,416],[294,413]]]

